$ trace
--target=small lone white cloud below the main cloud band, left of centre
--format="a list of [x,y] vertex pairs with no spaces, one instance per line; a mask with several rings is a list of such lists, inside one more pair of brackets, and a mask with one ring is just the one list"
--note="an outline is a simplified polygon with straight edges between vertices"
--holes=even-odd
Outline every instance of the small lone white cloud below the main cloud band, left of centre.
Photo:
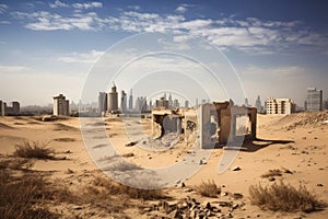
[[67,64],[94,64],[105,51],[90,50],[89,53],[71,53],[63,55],[57,60]]

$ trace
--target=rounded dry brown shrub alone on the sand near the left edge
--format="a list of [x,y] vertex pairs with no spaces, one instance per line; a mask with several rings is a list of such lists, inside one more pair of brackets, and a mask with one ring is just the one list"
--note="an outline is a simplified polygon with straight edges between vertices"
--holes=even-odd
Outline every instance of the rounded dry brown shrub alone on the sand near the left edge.
[[47,148],[46,143],[38,141],[25,141],[23,145],[16,145],[14,155],[20,158],[54,159],[55,151]]

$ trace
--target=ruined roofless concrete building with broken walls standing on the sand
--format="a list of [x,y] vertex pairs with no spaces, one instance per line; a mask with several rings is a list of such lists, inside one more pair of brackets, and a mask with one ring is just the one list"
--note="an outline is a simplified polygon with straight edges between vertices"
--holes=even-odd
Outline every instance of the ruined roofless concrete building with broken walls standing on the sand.
[[255,107],[236,106],[231,102],[213,102],[197,107],[178,108],[176,111],[157,107],[152,111],[152,132],[162,137],[167,132],[180,132],[188,138],[198,131],[201,148],[211,148],[216,143],[226,143],[241,135],[237,119],[245,117],[247,124],[242,135],[256,138],[257,110]]

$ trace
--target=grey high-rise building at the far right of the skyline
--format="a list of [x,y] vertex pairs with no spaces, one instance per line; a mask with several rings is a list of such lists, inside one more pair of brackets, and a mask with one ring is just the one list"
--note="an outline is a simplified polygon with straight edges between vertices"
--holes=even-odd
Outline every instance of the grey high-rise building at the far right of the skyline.
[[323,90],[316,88],[306,90],[305,111],[323,111]]

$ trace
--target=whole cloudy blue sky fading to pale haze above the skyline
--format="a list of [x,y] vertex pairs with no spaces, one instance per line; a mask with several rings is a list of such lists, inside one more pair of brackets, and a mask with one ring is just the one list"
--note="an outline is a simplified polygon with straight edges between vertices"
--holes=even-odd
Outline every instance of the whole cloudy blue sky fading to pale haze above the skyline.
[[[98,77],[92,92],[116,80],[119,92],[192,102],[235,97],[236,87],[236,102],[303,106],[309,87],[328,99],[327,9],[325,0],[0,0],[0,100],[47,105],[63,93],[78,102]],[[169,56],[144,56],[154,50]]]

